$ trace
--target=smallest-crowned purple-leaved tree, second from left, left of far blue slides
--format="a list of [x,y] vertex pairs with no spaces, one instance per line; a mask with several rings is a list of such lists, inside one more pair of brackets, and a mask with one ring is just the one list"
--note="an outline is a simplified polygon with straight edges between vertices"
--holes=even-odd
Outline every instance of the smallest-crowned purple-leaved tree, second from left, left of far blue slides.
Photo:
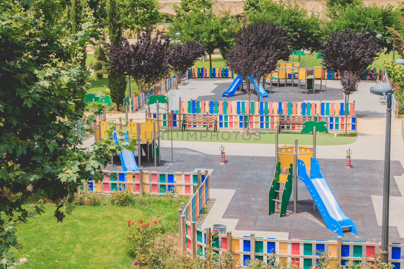
[[168,52],[168,64],[177,75],[175,88],[178,89],[179,78],[191,68],[198,58],[205,55],[205,46],[194,41],[174,45]]

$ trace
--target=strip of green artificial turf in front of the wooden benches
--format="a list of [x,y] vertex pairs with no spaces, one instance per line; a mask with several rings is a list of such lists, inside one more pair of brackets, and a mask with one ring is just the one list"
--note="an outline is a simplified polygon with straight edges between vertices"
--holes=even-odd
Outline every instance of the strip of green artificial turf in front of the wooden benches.
[[[164,130],[161,133],[163,140],[170,140],[170,131]],[[300,133],[280,133],[279,144],[295,144],[295,138],[299,140],[299,145],[312,145],[313,136],[311,134]],[[346,145],[356,141],[352,137],[335,137],[334,133],[317,133],[317,146]],[[260,132],[259,135],[242,136],[236,135],[233,131],[173,131],[175,141],[198,141],[198,142],[227,142],[227,143],[252,143],[252,144],[275,144],[275,133]]]

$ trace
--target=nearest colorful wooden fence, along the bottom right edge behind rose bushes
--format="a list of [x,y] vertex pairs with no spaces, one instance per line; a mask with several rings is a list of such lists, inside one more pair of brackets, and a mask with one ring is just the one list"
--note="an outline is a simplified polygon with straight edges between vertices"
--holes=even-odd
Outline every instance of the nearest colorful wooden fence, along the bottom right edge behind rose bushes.
[[[300,239],[275,239],[256,237],[254,233],[250,236],[232,235],[231,231],[226,234],[213,236],[210,228],[202,229],[194,227],[195,222],[190,223],[190,233],[187,233],[184,240],[186,251],[190,252],[192,257],[197,255],[204,257],[206,245],[212,244],[213,250],[217,253],[229,251],[234,258],[239,259],[239,264],[246,266],[249,260],[259,259],[267,263],[267,257],[275,254],[279,261],[297,263],[297,267],[309,269],[315,265],[316,259],[320,254],[329,255],[336,258],[337,266],[330,265],[330,268],[338,268],[340,265],[346,265],[348,261],[353,263],[375,263],[375,256],[379,256],[381,243],[345,241],[341,236],[337,240],[300,240]],[[219,248],[221,238],[222,247]],[[186,242],[181,242],[185,245]],[[195,242],[195,244],[189,244]],[[400,243],[389,244],[390,259],[389,262],[395,269],[400,269],[404,262],[401,259],[402,245]]]

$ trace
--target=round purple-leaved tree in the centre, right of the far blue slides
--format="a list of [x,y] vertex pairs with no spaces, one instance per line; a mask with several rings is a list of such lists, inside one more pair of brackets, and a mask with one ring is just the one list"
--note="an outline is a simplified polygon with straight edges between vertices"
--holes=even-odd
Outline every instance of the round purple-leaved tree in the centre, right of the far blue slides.
[[[276,69],[279,60],[287,60],[292,40],[287,32],[272,22],[243,25],[234,38],[236,45],[227,54],[226,65],[247,81],[248,103],[254,87],[250,86],[249,76],[257,82]],[[258,101],[259,101],[259,94]],[[250,127],[248,110],[247,134]]]

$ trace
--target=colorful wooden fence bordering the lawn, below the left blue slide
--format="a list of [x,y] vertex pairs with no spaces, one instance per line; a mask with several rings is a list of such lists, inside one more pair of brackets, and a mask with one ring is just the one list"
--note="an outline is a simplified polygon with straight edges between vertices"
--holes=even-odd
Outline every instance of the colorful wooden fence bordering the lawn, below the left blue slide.
[[[184,172],[158,172],[158,171],[114,171],[103,170],[103,181],[95,183],[88,179],[89,190],[108,194],[126,189],[132,190],[133,194],[194,196],[198,194],[198,186],[205,178],[209,177],[208,171],[193,173]],[[207,188],[209,188],[208,185]]]

